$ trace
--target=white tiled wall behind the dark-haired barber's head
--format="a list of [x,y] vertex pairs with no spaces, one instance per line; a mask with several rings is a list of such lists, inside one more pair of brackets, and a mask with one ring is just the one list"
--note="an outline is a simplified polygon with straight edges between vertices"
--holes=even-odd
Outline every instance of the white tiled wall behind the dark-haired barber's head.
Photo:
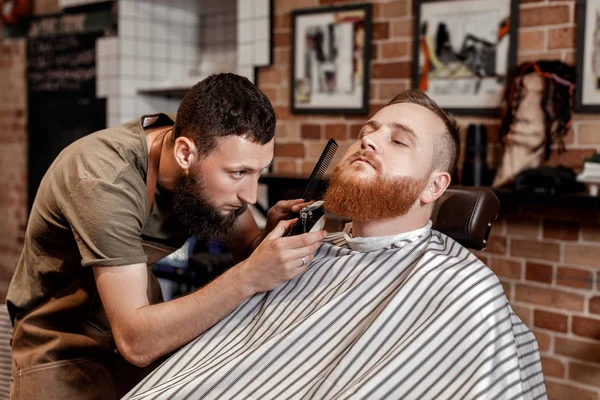
[[107,126],[177,111],[180,98],[139,89],[190,87],[216,72],[254,80],[254,66],[270,63],[270,0],[119,0],[118,7],[118,36],[97,44]]

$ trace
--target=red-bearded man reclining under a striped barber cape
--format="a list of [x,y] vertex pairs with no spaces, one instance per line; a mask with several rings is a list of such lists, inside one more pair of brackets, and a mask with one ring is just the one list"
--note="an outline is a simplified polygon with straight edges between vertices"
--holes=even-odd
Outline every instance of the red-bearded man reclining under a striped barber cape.
[[325,207],[352,223],[126,398],[545,398],[537,342],[498,278],[431,229],[458,152],[452,117],[420,91],[396,96],[330,179]]

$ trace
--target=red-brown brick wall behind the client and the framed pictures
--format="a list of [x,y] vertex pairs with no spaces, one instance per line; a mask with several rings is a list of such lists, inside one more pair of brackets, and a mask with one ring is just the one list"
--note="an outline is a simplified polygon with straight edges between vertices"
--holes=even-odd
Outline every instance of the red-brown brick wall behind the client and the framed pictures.
[[[366,117],[298,116],[289,111],[290,12],[297,8],[354,3],[339,0],[275,0],[274,65],[259,71],[259,86],[278,116],[275,172],[310,173],[327,139],[354,141]],[[373,1],[370,115],[411,85],[412,1]],[[525,0],[520,4],[518,62],[575,60],[575,1]],[[488,162],[501,156],[500,121],[459,119],[488,126]],[[600,146],[600,117],[576,115],[568,152],[549,163],[581,168]],[[464,134],[464,132],[463,132]],[[464,137],[463,137],[464,139]],[[506,210],[488,249],[477,252],[502,280],[515,311],[534,331],[550,399],[598,399],[600,395],[600,214],[553,207]]]

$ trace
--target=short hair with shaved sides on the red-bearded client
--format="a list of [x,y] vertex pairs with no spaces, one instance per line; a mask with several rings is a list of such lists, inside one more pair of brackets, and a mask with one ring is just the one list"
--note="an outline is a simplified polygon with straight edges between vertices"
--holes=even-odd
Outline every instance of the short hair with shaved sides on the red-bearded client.
[[436,141],[433,162],[435,167],[454,173],[458,155],[460,154],[460,127],[456,119],[450,114],[442,110],[435,101],[418,89],[409,89],[401,92],[387,104],[411,103],[425,107],[429,111],[437,115],[444,125],[446,131],[442,134],[442,140]]

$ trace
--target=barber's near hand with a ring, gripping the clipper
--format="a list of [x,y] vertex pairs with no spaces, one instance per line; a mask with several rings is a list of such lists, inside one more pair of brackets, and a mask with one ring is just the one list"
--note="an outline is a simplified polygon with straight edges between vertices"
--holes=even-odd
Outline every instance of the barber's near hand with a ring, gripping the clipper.
[[253,293],[275,289],[306,271],[315,251],[327,234],[321,230],[302,235],[282,237],[296,219],[281,221],[252,255],[238,264],[242,279]]

